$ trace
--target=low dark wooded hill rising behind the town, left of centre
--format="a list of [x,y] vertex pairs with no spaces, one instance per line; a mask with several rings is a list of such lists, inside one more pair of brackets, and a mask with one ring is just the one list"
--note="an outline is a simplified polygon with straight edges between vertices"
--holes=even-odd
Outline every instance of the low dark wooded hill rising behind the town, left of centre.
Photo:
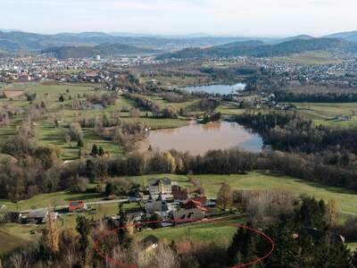
[[105,43],[99,46],[54,46],[42,53],[53,54],[59,59],[90,58],[97,54],[102,56],[130,55],[130,54],[157,54],[159,51],[137,46],[118,43]]

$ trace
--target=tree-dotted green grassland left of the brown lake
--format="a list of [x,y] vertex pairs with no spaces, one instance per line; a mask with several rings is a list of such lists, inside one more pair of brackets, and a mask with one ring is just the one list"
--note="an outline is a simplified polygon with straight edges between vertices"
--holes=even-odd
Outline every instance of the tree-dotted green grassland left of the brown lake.
[[[74,160],[79,158],[79,148],[76,142],[66,143],[64,140],[64,133],[69,123],[79,121],[83,118],[95,118],[95,116],[102,116],[104,113],[110,117],[112,113],[118,113],[121,110],[130,110],[135,107],[135,103],[125,96],[118,96],[115,105],[105,107],[103,110],[73,110],[71,109],[71,100],[67,100],[63,103],[58,101],[59,96],[67,94],[72,98],[80,96],[84,99],[83,94],[93,95],[95,93],[103,93],[101,91],[95,91],[95,86],[87,84],[54,84],[43,85],[39,83],[16,83],[6,85],[3,87],[6,90],[25,90],[37,94],[37,100],[44,101],[46,104],[46,115],[44,118],[35,121],[35,133],[38,145],[53,145],[60,147],[62,152],[62,160]],[[157,101],[160,105],[169,105],[162,98],[158,98]],[[0,105],[12,105],[16,107],[27,108],[29,102],[22,99],[1,99]],[[171,104],[170,104],[171,105]],[[172,104],[175,108],[179,109],[190,105],[190,103]],[[120,119],[126,123],[143,123],[146,127],[152,129],[166,129],[176,128],[187,125],[188,121],[180,119],[154,119],[146,117],[146,112],[142,111],[140,117],[131,117],[129,113],[120,113]],[[11,135],[16,134],[17,125],[22,120],[27,118],[27,114],[18,116],[12,119],[11,124],[1,127],[0,129],[0,142]],[[54,128],[54,120],[60,121],[59,127]],[[112,140],[104,140],[95,135],[91,129],[83,130],[85,147],[82,148],[82,153],[90,152],[93,144],[101,146],[105,151],[108,151],[112,156],[122,155],[122,147],[114,144]]]

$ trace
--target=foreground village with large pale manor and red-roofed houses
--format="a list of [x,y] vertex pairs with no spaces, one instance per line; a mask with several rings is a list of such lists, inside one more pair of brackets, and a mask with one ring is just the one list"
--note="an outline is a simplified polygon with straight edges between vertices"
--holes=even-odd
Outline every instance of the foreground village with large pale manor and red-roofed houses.
[[[194,184],[195,185],[195,184]],[[37,208],[22,212],[9,213],[11,222],[21,224],[35,224],[41,226],[47,222],[62,222],[63,217],[86,213],[95,215],[95,204],[137,204],[134,209],[125,212],[128,222],[142,224],[150,221],[162,221],[157,227],[169,227],[179,222],[185,223],[201,221],[230,212],[224,212],[217,207],[216,197],[205,197],[204,189],[198,184],[195,188],[181,188],[176,181],[165,177],[162,179],[148,180],[145,187],[135,186],[129,189],[128,197],[116,197],[109,195],[97,202],[84,202],[72,200],[69,205],[57,205],[54,207]],[[120,209],[119,209],[120,211]],[[101,221],[112,226],[117,226],[120,214],[104,215]]]

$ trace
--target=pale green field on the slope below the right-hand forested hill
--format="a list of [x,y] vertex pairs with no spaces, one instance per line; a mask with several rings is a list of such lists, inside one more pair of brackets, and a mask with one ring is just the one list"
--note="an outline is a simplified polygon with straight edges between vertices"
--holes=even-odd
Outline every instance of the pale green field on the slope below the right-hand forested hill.
[[277,62],[308,65],[342,63],[342,59],[339,59],[326,51],[310,51],[302,54],[274,57],[273,60]]

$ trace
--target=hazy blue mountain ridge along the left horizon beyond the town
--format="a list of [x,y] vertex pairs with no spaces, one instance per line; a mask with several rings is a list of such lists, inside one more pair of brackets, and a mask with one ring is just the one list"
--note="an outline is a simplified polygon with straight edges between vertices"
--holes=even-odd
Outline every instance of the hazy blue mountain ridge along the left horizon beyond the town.
[[[165,51],[179,50],[185,47],[219,46],[235,41],[252,38],[238,37],[195,37],[165,38],[154,36],[129,36],[125,33],[112,35],[103,32],[60,33],[41,35],[21,31],[0,31],[0,50],[10,53],[40,51],[52,46],[98,46],[104,43],[120,43]],[[262,38],[264,39],[264,38]]]

